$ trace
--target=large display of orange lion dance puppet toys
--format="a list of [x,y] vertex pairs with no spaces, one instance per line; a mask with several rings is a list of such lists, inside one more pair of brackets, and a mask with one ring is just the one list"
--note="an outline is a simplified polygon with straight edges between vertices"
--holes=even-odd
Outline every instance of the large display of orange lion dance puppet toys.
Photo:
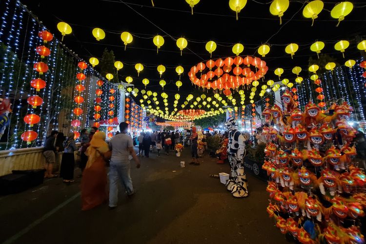
[[294,96],[285,91],[284,110],[264,109],[269,217],[300,243],[364,243],[366,175],[353,160],[357,131],[346,122],[353,110],[346,102],[327,110],[309,102],[302,111]]

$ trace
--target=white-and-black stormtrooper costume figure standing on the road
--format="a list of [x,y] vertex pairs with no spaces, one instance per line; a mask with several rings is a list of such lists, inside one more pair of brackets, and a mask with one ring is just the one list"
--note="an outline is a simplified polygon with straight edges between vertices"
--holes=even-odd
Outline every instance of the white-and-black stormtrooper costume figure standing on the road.
[[238,130],[238,122],[234,118],[229,118],[226,122],[229,131],[229,141],[227,144],[227,156],[231,166],[230,179],[226,183],[226,189],[234,197],[243,198],[249,195],[248,183],[244,173],[244,136]]

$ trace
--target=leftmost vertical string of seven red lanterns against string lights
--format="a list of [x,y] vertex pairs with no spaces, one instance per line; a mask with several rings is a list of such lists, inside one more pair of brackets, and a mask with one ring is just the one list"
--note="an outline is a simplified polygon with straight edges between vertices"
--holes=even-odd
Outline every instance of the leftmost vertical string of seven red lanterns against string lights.
[[[41,31],[38,34],[38,36],[41,38],[44,44],[47,43],[47,41],[51,41],[53,39],[53,35],[46,30]],[[41,61],[35,62],[33,68],[38,72],[39,77],[37,79],[33,79],[30,82],[31,87],[33,87],[36,90],[36,92],[33,94],[33,96],[30,96],[27,99],[28,104],[32,105],[32,112],[31,114],[27,114],[23,118],[24,122],[26,124],[29,124],[29,130],[21,134],[21,140],[27,142],[27,144],[30,144],[38,137],[38,133],[31,130],[31,128],[33,128],[34,124],[39,123],[41,121],[41,118],[37,114],[33,113],[34,112],[33,109],[36,108],[37,106],[40,106],[43,103],[43,99],[41,99],[41,97],[37,95],[37,92],[41,91],[41,89],[46,87],[46,81],[41,79],[41,75],[43,75],[43,73],[48,71],[48,66],[46,63],[42,61],[45,57],[51,54],[50,49],[44,45],[36,47],[36,52],[41,56]]]

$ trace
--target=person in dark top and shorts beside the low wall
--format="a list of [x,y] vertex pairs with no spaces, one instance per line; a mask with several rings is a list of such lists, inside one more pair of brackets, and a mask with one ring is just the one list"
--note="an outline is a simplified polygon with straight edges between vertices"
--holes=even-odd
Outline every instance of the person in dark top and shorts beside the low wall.
[[56,163],[55,152],[57,151],[57,148],[55,147],[55,142],[58,133],[59,132],[57,130],[53,130],[51,135],[49,135],[44,142],[43,156],[46,158],[46,164],[44,166],[46,171],[44,172],[44,178],[57,177],[57,175],[52,174],[52,170],[53,164]]

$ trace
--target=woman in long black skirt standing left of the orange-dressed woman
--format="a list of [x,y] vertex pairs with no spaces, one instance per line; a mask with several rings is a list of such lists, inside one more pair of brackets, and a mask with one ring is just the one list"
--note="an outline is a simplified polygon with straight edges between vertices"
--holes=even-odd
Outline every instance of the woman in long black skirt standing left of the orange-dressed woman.
[[70,132],[67,135],[66,140],[63,142],[62,161],[60,176],[63,178],[63,183],[73,183],[74,182],[74,168],[75,168],[75,156],[74,151],[78,150],[74,140],[75,134]]

